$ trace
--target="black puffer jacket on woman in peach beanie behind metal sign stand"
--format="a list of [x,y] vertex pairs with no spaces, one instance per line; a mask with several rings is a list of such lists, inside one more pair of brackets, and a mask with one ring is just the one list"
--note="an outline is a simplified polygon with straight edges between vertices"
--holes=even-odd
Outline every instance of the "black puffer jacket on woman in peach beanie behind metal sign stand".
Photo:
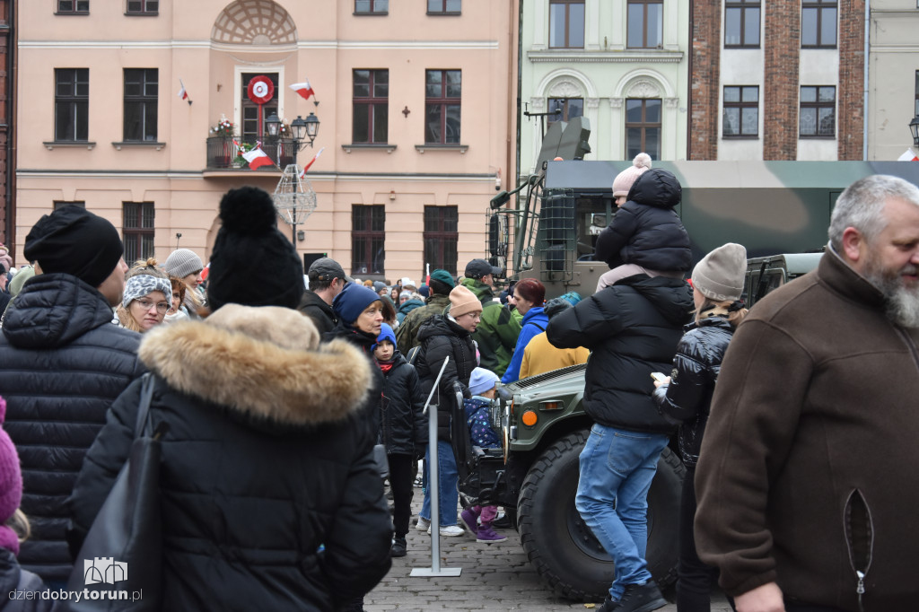
[[[418,330],[418,340],[421,349],[414,364],[421,379],[421,392],[427,399],[434,388],[434,380],[444,359],[449,357],[444,375],[440,377],[437,385],[438,392],[434,394],[431,403],[436,403],[437,408],[437,439],[450,439],[450,412],[449,407],[456,403],[453,383],[459,382],[463,396],[471,397],[469,392],[469,379],[472,370],[476,367],[475,343],[469,332],[448,319],[446,314],[437,314],[431,317]],[[461,406],[459,407],[461,409]]]

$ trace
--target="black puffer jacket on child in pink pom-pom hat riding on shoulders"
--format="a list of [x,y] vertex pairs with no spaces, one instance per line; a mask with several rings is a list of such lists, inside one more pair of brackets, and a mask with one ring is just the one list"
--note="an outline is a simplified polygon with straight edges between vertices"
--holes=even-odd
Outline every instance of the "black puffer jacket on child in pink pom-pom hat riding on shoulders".
[[632,185],[628,200],[596,238],[594,259],[609,267],[635,264],[651,270],[692,266],[689,234],[674,207],[682,189],[676,177],[652,168]]

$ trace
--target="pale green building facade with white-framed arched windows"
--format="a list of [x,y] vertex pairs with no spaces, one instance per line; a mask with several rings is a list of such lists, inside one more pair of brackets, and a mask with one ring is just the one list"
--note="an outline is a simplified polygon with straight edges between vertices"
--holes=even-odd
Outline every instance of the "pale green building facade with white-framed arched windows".
[[590,121],[586,159],[631,159],[642,151],[652,159],[686,159],[688,3],[523,4],[522,175],[536,169],[550,122],[577,116]]

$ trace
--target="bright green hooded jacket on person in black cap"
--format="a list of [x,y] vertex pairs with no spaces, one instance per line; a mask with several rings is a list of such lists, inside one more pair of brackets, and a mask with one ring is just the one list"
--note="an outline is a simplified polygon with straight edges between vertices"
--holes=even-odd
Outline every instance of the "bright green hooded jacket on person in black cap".
[[[505,375],[514,355],[520,323],[500,301],[494,300],[492,288],[477,278],[463,278],[462,285],[471,290],[482,302],[482,319],[472,334],[479,345],[482,368],[490,369],[499,377]],[[520,358],[523,358],[521,356]]]

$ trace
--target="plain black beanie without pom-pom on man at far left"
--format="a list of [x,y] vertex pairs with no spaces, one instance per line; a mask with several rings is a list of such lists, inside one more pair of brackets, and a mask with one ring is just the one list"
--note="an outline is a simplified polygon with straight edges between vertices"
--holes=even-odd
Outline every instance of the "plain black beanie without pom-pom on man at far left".
[[118,266],[124,245],[109,221],[79,206],[63,206],[32,226],[23,254],[38,261],[42,272],[63,272],[98,287]]

